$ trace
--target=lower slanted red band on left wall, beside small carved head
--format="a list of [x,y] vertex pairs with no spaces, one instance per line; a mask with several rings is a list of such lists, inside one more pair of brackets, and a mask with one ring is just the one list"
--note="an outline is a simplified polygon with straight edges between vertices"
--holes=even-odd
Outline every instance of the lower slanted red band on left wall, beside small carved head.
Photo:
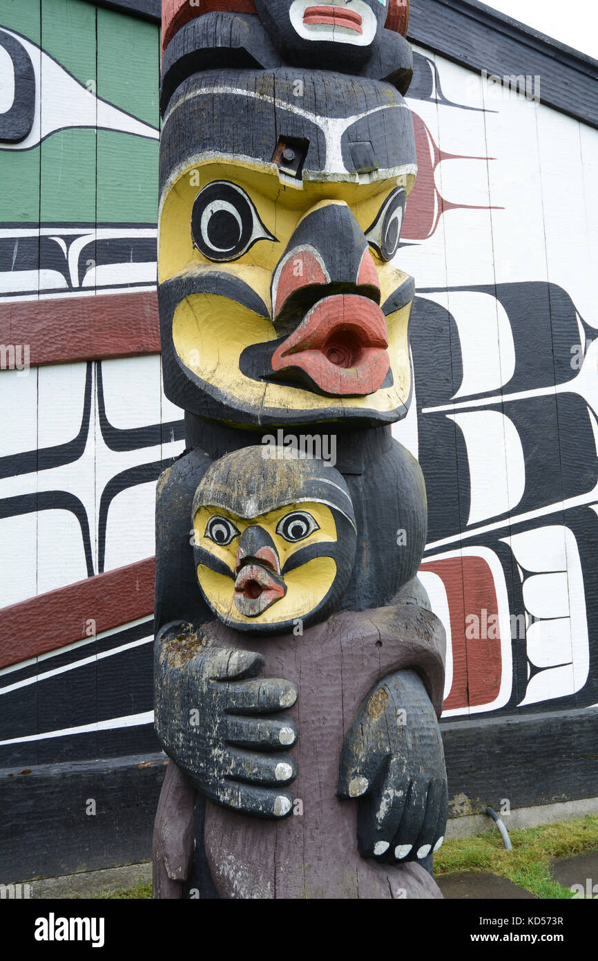
[[155,557],[148,557],[2,608],[0,668],[153,614],[154,581]]

